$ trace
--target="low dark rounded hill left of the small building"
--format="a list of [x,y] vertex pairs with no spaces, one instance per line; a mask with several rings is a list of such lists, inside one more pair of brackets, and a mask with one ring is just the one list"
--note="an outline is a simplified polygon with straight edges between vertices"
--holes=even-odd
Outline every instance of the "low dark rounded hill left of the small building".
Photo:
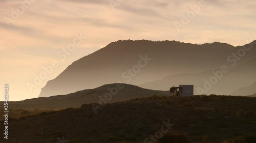
[[[82,104],[113,103],[147,96],[166,96],[169,91],[153,91],[131,84],[113,83],[89,90],[82,90],[68,95],[39,97],[24,101],[8,102],[12,109],[61,109],[77,108]],[[0,102],[3,103],[3,102]],[[3,103],[4,104],[4,103]]]

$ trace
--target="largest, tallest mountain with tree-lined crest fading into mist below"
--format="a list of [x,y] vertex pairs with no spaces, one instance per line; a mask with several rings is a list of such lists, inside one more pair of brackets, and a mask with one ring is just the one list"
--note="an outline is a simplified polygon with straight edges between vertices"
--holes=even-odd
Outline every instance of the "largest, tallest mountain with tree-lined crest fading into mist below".
[[[234,47],[219,42],[198,45],[167,40],[119,40],[72,63],[55,79],[47,82],[39,97],[69,94],[115,82],[138,85],[169,75],[215,70],[223,65],[233,64],[233,68],[247,60],[251,65],[242,70],[250,72],[255,70],[255,43],[245,45],[245,51],[242,49],[244,46]],[[238,51],[241,57],[233,55]],[[185,78],[183,81],[189,82]]]

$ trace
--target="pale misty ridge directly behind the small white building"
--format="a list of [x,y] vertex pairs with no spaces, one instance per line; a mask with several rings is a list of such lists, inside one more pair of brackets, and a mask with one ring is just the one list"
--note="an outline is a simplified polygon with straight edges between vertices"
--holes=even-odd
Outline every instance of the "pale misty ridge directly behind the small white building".
[[[227,73],[222,74],[219,74],[218,71],[220,71],[220,69],[194,74],[170,75],[161,80],[139,84],[139,87],[164,90],[172,87],[173,85],[194,84],[194,95],[231,95],[233,91],[239,89],[242,85],[250,85],[256,80],[251,77],[251,74],[248,74],[245,71],[241,72],[236,69],[230,69]],[[212,77],[215,77],[217,80],[211,80]]]

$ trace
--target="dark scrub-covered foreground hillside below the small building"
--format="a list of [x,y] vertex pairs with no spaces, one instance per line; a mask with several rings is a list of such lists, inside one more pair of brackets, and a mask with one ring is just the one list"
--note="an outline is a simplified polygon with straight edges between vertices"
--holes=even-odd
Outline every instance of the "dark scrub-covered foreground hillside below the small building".
[[[9,137],[13,143],[57,142],[58,137],[70,143],[144,142],[163,125],[166,130],[167,123],[168,134],[183,134],[180,137],[193,143],[219,143],[256,134],[255,102],[252,97],[152,96],[108,104],[97,114],[92,104],[83,104],[81,108],[10,119]],[[45,132],[40,135],[42,128]]]

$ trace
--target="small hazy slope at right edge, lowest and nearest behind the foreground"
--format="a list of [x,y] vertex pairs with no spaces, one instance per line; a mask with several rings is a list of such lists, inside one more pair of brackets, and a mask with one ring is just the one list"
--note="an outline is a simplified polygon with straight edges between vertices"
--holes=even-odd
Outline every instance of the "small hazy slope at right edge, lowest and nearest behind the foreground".
[[240,88],[232,93],[232,95],[256,95],[256,82],[248,87]]

